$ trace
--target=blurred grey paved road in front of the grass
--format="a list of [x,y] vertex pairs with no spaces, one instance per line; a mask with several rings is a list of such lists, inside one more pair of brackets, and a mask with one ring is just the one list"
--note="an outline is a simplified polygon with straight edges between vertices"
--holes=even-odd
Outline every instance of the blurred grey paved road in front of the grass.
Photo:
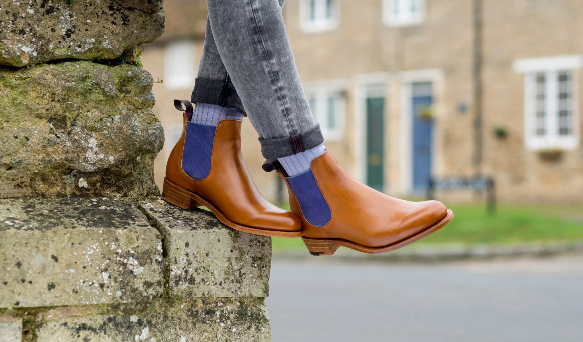
[[582,342],[583,256],[449,264],[274,261],[273,341]]

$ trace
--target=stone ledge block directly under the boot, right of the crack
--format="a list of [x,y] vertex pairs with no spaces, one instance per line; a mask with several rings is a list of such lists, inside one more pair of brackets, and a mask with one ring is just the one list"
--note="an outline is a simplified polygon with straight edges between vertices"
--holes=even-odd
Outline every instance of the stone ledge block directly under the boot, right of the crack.
[[209,211],[161,200],[141,205],[162,233],[171,296],[268,295],[271,238],[228,228]]

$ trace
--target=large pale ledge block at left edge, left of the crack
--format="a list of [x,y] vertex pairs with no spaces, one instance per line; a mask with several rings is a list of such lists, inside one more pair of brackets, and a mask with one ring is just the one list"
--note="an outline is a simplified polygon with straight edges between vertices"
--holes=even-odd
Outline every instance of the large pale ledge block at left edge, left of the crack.
[[0,200],[0,308],[157,298],[160,238],[125,200]]

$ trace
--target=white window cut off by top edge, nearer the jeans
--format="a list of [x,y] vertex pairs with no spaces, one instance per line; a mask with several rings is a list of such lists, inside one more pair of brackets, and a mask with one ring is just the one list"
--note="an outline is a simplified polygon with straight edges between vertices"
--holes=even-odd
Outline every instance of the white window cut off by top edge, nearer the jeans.
[[304,32],[319,33],[338,26],[338,0],[301,0],[300,27]]

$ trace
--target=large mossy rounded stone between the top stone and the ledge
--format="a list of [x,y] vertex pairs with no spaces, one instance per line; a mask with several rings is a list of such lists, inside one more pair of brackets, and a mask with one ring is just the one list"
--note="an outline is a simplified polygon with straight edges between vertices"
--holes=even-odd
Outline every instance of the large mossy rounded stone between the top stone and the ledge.
[[0,198],[159,194],[153,105],[152,76],[132,65],[0,68]]

